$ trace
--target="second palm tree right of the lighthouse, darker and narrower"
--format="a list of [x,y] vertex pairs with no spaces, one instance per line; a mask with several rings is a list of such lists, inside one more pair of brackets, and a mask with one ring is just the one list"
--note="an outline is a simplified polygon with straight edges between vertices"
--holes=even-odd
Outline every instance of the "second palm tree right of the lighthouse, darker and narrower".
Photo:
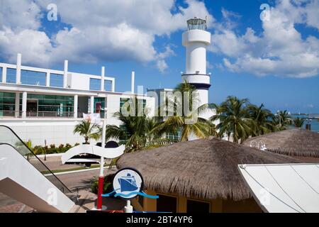
[[272,124],[274,115],[268,109],[264,109],[264,104],[261,104],[259,107],[250,104],[247,106],[247,111],[250,118],[254,121],[251,126],[254,136],[264,135],[274,130],[274,125]]

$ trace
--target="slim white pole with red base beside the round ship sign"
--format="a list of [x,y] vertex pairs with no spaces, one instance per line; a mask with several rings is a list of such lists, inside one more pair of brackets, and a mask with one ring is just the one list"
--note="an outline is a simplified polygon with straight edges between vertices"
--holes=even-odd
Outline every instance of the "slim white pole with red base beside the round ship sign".
[[[102,148],[105,148],[106,113],[107,113],[107,108],[104,108],[104,118],[103,118],[103,126],[102,126],[102,143],[101,143],[101,147]],[[99,187],[98,187],[98,201],[97,201],[97,206],[96,206],[96,208],[98,210],[102,209],[102,194],[103,194],[103,182],[104,182],[103,167],[104,167],[104,157],[101,156],[100,174],[99,174]]]

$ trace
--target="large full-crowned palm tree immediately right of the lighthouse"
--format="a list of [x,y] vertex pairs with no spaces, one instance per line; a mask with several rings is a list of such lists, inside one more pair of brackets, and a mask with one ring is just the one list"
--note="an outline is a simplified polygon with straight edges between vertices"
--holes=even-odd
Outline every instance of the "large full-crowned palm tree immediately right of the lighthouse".
[[249,104],[248,99],[238,99],[236,96],[228,96],[219,106],[215,104],[216,115],[211,117],[211,121],[220,121],[216,128],[221,138],[233,135],[233,142],[242,143],[252,135],[254,121],[249,116]]

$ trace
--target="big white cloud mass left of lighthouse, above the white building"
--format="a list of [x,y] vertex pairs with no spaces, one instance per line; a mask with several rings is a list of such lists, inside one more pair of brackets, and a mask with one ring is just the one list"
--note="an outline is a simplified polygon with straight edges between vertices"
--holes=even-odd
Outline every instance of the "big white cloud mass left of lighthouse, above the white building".
[[[194,16],[208,16],[208,26],[215,21],[203,2],[185,3],[186,6],[176,6],[174,0],[7,1],[0,9],[0,21],[4,21],[0,22],[0,50],[10,62],[16,59],[16,52],[21,52],[24,63],[35,65],[64,59],[134,60],[154,62],[163,72],[168,67],[165,58],[174,55],[174,51],[164,47],[164,52],[159,52],[155,45],[158,36],[186,28],[186,20]],[[57,5],[58,22],[67,27],[53,35],[45,33],[47,24],[41,21],[48,4]]]

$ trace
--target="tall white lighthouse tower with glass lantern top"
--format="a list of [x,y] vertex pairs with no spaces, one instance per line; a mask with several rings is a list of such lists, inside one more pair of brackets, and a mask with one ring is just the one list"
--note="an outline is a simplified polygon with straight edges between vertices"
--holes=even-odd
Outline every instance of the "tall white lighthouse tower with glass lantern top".
[[211,44],[211,33],[206,31],[206,20],[196,17],[188,20],[182,44],[186,47],[186,72],[181,75],[181,79],[196,87],[199,106],[208,104],[211,82],[210,75],[206,73],[206,47]]

